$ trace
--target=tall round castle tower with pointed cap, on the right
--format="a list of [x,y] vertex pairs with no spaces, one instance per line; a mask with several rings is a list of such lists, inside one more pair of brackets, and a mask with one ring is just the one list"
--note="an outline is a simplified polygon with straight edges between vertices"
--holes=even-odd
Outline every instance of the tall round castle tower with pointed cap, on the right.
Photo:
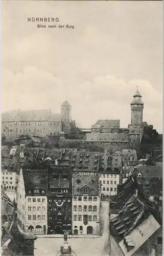
[[143,109],[144,103],[141,100],[142,96],[138,92],[133,95],[133,101],[130,103],[131,105],[131,124],[132,125],[142,125],[143,122]]

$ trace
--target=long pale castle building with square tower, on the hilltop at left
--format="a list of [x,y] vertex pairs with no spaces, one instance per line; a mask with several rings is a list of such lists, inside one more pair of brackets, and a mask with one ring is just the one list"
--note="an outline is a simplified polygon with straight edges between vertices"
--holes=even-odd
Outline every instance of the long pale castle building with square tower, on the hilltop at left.
[[2,133],[7,139],[18,134],[45,136],[59,135],[62,131],[69,134],[71,123],[71,105],[65,101],[61,105],[61,114],[51,110],[8,111],[2,114]]

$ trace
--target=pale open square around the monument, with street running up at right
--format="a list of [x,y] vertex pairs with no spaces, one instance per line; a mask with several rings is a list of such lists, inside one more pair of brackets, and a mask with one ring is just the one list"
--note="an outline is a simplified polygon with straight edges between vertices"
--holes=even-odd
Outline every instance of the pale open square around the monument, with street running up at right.
[[[70,238],[69,244],[76,256],[107,256],[108,255],[108,211],[109,202],[102,202],[101,224],[103,234],[100,238]],[[63,245],[63,238],[38,238],[35,242],[35,256],[49,255],[57,256],[60,246]]]

